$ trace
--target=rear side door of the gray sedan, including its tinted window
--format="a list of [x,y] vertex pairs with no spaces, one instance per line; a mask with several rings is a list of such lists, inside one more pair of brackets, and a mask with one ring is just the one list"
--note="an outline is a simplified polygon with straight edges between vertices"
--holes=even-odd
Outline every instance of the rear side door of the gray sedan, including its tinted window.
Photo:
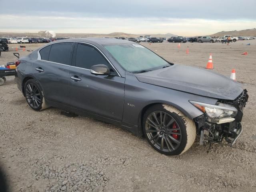
[[74,42],[60,42],[39,51],[40,56],[33,64],[33,72],[44,90],[46,100],[69,104],[68,72],[73,47]]

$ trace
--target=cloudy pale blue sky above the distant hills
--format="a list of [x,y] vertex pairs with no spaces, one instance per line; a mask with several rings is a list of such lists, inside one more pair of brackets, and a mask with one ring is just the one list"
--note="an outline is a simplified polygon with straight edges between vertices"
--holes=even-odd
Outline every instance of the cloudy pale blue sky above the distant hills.
[[12,0],[0,11],[0,32],[210,35],[255,28],[255,7],[256,0]]

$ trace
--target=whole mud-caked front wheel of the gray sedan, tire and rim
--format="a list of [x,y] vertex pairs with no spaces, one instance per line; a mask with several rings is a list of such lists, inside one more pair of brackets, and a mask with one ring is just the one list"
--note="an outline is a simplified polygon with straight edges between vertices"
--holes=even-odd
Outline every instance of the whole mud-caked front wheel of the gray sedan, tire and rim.
[[148,108],[143,116],[142,129],[148,143],[165,155],[177,156],[186,152],[196,138],[194,121],[166,104]]

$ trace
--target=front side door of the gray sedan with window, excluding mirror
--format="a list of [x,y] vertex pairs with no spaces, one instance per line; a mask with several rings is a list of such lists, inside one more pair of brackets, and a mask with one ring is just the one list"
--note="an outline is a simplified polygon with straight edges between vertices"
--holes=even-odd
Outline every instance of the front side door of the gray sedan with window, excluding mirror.
[[[124,108],[124,80],[102,52],[91,44],[77,43],[70,67],[70,105],[121,121]],[[94,75],[90,68],[105,64],[112,72],[108,75]]]

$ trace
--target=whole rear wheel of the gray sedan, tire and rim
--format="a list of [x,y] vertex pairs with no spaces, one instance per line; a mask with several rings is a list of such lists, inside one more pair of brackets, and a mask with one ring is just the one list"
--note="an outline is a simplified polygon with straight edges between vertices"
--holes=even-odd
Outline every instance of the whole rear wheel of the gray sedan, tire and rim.
[[[35,88],[36,87],[36,88]],[[29,79],[24,86],[24,94],[28,105],[35,111],[42,109],[44,96],[42,88],[34,79]]]

